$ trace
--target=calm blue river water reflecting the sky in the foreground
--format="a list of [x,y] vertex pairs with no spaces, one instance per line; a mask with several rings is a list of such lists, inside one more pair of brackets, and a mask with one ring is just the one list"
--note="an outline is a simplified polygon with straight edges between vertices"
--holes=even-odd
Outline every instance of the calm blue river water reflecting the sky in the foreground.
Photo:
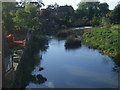
[[[29,82],[26,88],[117,88],[118,73],[114,62],[98,50],[82,45],[78,49],[65,49],[65,40],[51,39],[39,65],[32,75],[42,75],[46,81]],[[39,71],[39,68],[44,69]]]

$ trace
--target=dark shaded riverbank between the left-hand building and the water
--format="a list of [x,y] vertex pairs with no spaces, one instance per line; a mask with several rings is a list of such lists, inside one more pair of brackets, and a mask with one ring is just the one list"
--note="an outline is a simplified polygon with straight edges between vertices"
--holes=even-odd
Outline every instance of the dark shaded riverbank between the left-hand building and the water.
[[[48,47],[48,39],[45,36],[32,33],[29,41],[26,42],[24,54],[21,58],[21,62],[16,70],[16,78],[13,87],[25,88],[28,82],[36,82],[36,78],[31,75],[34,66],[39,63],[42,56],[39,55],[40,51],[45,51]],[[46,80],[42,77],[41,83]]]

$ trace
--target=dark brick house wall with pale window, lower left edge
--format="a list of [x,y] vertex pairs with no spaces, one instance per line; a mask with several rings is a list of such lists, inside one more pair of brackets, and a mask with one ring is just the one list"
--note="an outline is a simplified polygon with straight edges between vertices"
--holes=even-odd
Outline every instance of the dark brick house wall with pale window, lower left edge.
[[14,68],[13,68],[13,58],[12,53],[9,48],[7,39],[3,37],[2,41],[2,82],[3,88],[10,88],[14,81]]

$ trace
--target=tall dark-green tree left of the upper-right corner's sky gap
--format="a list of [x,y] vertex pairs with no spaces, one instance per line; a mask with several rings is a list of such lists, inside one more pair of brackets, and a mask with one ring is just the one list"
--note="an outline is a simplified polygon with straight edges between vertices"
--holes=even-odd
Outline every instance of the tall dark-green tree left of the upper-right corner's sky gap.
[[[88,21],[91,21],[95,15],[99,15],[99,6],[98,1],[96,2],[80,2],[78,4],[78,8],[76,10],[76,14],[79,16],[79,18],[86,17]],[[88,22],[90,23],[90,22]]]

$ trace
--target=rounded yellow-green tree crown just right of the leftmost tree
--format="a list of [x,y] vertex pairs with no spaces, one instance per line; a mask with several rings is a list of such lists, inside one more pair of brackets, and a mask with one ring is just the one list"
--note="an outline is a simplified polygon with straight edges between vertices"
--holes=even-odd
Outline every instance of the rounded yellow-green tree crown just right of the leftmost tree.
[[26,4],[25,8],[17,10],[16,17],[13,18],[16,24],[15,28],[17,30],[38,30],[41,26],[41,23],[37,15],[37,10],[37,6],[30,3]]

